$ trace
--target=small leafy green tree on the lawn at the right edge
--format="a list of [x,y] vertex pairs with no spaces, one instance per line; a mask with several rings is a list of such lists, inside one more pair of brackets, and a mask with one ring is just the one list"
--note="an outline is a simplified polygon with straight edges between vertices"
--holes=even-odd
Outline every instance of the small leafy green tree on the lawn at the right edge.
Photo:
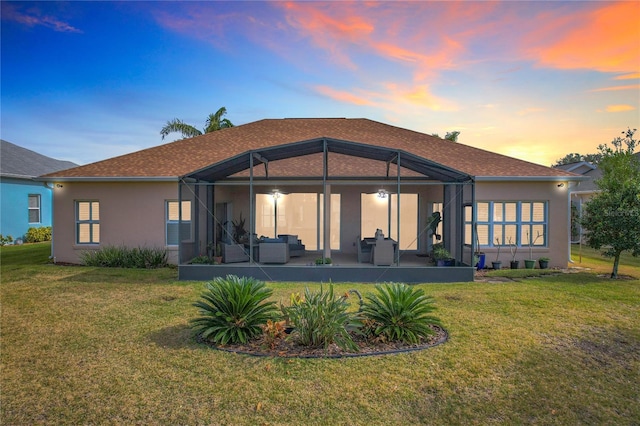
[[622,132],[624,137],[615,138],[613,147],[598,147],[602,177],[595,183],[600,191],[585,205],[581,220],[587,244],[614,259],[611,278],[618,277],[622,252],[640,255],[640,161],[633,155],[638,145],[635,131]]

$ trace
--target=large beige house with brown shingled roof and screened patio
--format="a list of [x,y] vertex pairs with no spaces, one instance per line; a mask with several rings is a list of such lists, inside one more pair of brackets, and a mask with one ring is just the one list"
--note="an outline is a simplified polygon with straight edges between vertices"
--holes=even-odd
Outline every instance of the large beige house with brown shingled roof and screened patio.
[[[519,259],[566,266],[567,187],[582,178],[372,120],[317,118],[260,120],[41,179],[55,186],[57,261],[160,246],[183,279],[422,282],[473,279],[478,244],[487,260],[506,263],[511,244]],[[391,254],[358,263],[375,234]],[[457,266],[429,266],[437,243]],[[226,263],[189,264],[223,250]],[[316,267],[322,258],[333,266]]]

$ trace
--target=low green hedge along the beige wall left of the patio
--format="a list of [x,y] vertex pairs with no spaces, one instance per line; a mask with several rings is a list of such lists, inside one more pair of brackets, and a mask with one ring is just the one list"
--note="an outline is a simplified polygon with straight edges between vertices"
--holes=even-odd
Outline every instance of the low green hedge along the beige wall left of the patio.
[[106,246],[82,252],[80,260],[87,266],[154,269],[167,266],[167,251],[161,248]]

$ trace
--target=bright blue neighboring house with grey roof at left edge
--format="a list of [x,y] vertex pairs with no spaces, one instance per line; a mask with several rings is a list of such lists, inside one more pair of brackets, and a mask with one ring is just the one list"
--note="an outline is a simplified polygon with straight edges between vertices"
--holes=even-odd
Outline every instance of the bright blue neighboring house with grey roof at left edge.
[[76,166],[0,140],[0,234],[22,240],[31,227],[51,226],[50,185],[34,178]]

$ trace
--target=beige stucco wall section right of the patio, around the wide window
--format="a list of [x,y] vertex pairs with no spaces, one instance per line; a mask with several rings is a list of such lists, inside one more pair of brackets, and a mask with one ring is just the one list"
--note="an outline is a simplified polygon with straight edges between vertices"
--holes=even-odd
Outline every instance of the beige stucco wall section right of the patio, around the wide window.
[[[533,248],[533,258],[549,257],[549,266],[566,267],[569,261],[569,219],[567,185],[558,187],[558,182],[479,182],[476,184],[476,201],[546,201],[548,203],[548,247]],[[483,249],[486,261],[496,259],[495,249]],[[516,259],[520,267],[529,258],[529,248],[520,247]],[[511,253],[502,248],[500,260],[509,267]],[[536,265],[537,267],[537,265]]]

